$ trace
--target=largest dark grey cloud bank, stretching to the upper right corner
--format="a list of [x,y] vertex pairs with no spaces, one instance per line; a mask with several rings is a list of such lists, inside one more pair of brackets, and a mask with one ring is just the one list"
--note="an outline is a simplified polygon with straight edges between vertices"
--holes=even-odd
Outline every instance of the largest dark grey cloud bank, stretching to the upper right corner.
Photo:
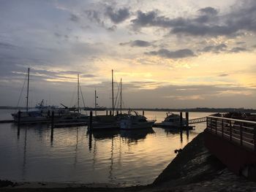
[[241,31],[256,32],[256,1],[242,1],[225,15],[219,15],[213,7],[199,9],[198,12],[200,15],[190,18],[167,18],[157,11],[138,11],[137,18],[131,22],[135,30],[155,26],[170,28],[172,34],[192,36],[233,36],[241,34]]

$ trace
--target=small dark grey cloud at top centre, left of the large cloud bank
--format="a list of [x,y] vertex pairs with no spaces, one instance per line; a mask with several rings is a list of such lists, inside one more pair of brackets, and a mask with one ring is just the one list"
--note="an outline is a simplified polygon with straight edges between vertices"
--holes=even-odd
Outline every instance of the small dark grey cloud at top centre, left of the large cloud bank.
[[130,16],[130,13],[129,9],[127,8],[114,10],[113,7],[107,7],[105,15],[107,15],[113,23],[117,24],[127,20],[127,18]]

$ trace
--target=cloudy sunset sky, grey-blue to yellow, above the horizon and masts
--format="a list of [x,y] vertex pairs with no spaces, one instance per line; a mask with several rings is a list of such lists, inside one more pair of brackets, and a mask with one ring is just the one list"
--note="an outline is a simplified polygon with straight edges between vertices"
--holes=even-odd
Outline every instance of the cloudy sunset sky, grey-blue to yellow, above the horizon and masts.
[[254,0],[0,0],[0,26],[1,106],[25,106],[30,68],[30,107],[76,105],[78,74],[111,107],[113,69],[124,107],[256,109]]

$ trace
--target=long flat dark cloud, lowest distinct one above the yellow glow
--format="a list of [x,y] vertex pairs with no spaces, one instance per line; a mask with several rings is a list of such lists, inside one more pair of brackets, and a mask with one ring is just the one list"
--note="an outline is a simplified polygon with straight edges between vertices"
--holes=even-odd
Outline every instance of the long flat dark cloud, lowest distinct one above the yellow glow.
[[165,49],[160,49],[158,51],[151,51],[145,53],[146,55],[159,55],[163,58],[187,58],[195,56],[195,54],[192,52],[192,50],[184,49],[184,50],[176,50],[176,51],[170,51]]

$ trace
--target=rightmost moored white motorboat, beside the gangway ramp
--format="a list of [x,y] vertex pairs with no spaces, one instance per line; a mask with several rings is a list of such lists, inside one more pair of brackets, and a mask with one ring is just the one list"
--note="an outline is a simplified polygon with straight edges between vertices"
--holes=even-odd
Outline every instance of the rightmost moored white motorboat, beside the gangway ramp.
[[166,115],[167,117],[162,123],[155,123],[154,126],[162,128],[193,128],[193,126],[187,126],[187,120],[185,118],[182,118],[182,122],[180,122],[180,115],[174,114],[173,112],[167,112]]

